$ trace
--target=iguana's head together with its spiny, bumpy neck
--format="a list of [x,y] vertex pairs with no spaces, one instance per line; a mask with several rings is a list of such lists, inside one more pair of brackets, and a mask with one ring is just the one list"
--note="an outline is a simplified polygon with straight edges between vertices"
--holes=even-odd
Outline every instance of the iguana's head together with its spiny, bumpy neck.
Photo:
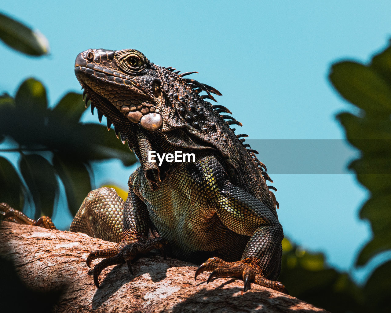
[[[213,115],[212,105],[204,99],[215,101],[211,93],[221,93],[183,78],[197,72],[178,74],[174,70],[154,65],[134,49],[89,49],[75,61],[75,74],[87,94],[86,103],[91,100],[92,112],[96,107],[100,118],[105,115],[114,126],[123,128],[129,121],[148,131],[190,127],[206,133],[219,115]],[[207,95],[199,95],[202,91]],[[226,108],[223,111],[229,112]]]

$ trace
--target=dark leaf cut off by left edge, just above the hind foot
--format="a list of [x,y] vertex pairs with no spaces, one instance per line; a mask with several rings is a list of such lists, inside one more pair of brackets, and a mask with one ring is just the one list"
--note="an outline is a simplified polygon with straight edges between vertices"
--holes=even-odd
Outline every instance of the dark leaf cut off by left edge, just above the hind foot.
[[25,187],[13,165],[0,156],[0,202],[17,210],[23,209]]

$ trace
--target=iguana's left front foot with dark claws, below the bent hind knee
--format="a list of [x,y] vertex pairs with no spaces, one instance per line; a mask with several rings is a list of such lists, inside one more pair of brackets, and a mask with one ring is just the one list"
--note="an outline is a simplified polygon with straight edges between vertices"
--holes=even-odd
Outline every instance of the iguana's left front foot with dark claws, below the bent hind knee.
[[100,261],[93,268],[95,286],[99,288],[99,275],[102,273],[102,270],[110,265],[124,264],[126,262],[129,272],[134,275],[131,267],[131,260],[133,260],[137,255],[145,254],[152,249],[159,249],[164,258],[166,258],[163,248],[165,245],[167,245],[167,241],[158,237],[147,239],[142,243],[138,241],[127,245],[119,243],[115,248],[91,251],[90,255],[88,255],[86,259],[88,267],[91,267],[91,261],[93,259],[106,257],[106,259]]

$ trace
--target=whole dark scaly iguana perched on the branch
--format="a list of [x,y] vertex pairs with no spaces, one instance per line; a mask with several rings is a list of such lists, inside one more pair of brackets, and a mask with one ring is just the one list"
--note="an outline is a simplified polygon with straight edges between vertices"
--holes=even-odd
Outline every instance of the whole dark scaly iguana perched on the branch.
[[[109,188],[91,191],[70,230],[118,242],[90,252],[99,288],[104,268],[127,263],[152,249],[184,261],[202,263],[195,272],[239,277],[287,293],[280,274],[283,230],[265,165],[243,144],[240,125],[212,94],[215,88],[160,67],[133,49],[89,49],[75,61],[86,107],[104,115],[108,130],[127,142],[141,166],[131,174],[124,202]],[[201,93],[204,92],[204,95]],[[217,101],[216,101],[217,102]],[[242,139],[240,139],[242,138]],[[194,153],[191,162],[151,162],[150,152]],[[8,216],[17,214],[8,213]],[[46,221],[46,219],[45,219]],[[34,221],[33,221],[34,222]],[[41,222],[39,222],[41,223]],[[49,226],[51,224],[49,223]]]

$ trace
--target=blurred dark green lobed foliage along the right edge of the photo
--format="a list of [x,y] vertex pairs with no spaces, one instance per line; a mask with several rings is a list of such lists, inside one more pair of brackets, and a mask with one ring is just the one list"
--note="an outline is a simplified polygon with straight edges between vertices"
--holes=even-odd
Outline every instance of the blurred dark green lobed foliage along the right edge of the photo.
[[[361,151],[349,168],[371,193],[360,218],[371,223],[373,237],[361,250],[357,266],[391,249],[391,47],[368,65],[352,61],[332,66],[330,81],[336,90],[360,109],[358,115],[343,112],[337,119],[348,141]],[[363,301],[373,312],[389,312],[391,261],[379,266],[363,288]],[[370,304],[370,305],[369,305]]]

